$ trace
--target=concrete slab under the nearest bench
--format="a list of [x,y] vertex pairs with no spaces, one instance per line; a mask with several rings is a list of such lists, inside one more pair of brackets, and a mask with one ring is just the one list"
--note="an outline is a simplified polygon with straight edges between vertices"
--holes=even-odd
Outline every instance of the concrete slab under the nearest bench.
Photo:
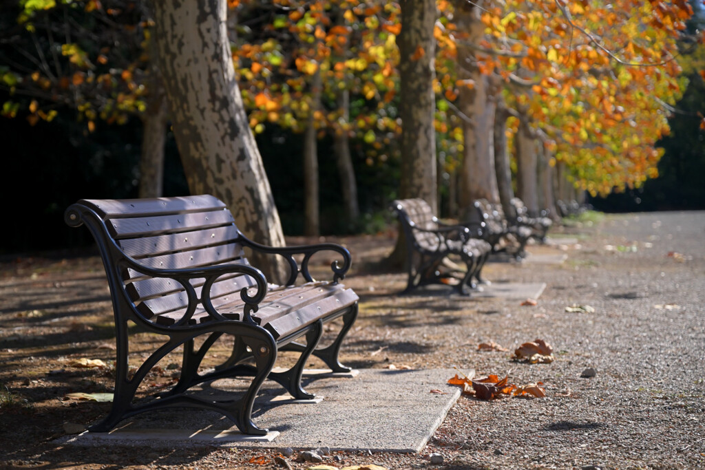
[[[282,389],[267,381],[253,412],[257,426],[269,428],[265,438],[241,435],[231,421],[214,412],[184,408],[133,416],[110,433],[82,433],[64,438],[63,444],[121,443],[150,450],[207,444],[418,452],[460,396],[458,387],[447,385],[455,373],[447,369],[366,369],[353,378],[305,378],[305,389],[324,397],[319,403],[305,404],[278,404]],[[246,381],[222,379],[203,391],[222,395],[244,390],[245,385]]]

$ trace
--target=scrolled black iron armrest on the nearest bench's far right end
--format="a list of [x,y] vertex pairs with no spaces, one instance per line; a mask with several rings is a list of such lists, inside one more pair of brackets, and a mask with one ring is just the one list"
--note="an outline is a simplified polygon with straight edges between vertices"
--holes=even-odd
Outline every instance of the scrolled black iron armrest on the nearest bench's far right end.
[[[338,245],[336,243],[317,243],[315,245],[296,245],[290,247],[269,247],[266,245],[260,245],[257,242],[249,240],[247,237],[240,237],[239,240],[244,246],[250,247],[257,250],[258,252],[266,254],[278,254],[283,256],[289,264],[290,273],[289,278],[286,281],[286,285],[293,285],[296,282],[298,274],[307,281],[312,282],[314,278],[309,273],[309,261],[311,257],[317,252],[330,251],[336,252],[341,255],[343,264],[342,266],[338,264],[338,260],[331,263],[331,270],[333,271],[333,283],[338,283],[338,280],[345,278],[345,273],[350,269],[350,265],[353,264],[353,259],[350,256],[348,249]],[[298,264],[294,259],[294,255],[302,254],[304,255],[301,264]]]

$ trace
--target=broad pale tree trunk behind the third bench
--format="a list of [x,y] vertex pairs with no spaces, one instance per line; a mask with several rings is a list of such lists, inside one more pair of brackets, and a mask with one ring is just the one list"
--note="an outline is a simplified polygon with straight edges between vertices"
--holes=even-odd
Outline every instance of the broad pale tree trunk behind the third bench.
[[494,162],[494,90],[491,89],[489,77],[480,71],[470,47],[470,44],[479,45],[484,38],[485,25],[480,18],[483,4],[487,3],[461,0],[456,3],[455,9],[458,30],[465,32],[458,42],[458,78],[465,82],[465,85],[460,85],[458,100],[458,108],[464,115],[461,211],[472,207],[475,199],[500,201]]

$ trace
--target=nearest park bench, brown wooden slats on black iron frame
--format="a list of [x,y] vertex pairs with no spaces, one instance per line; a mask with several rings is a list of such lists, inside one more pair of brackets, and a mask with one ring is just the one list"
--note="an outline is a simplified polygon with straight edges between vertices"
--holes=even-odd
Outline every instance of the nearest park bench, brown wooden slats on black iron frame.
[[[90,431],[109,431],[129,416],[154,409],[196,407],[227,416],[242,433],[264,435],[267,430],[252,422],[252,405],[266,378],[295,399],[310,399],[313,395],[301,387],[310,354],[333,372],[350,371],[338,361],[338,352],[357,316],[358,297],[338,282],[350,268],[350,254],[340,245],[259,245],[240,233],[225,204],[209,195],[82,199],[68,207],[65,218],[73,227],[86,225],[97,242],[114,310],[114,400]],[[248,262],[245,248],[283,256],[290,268],[286,283],[267,283]],[[324,250],[342,263],[331,264],[331,282],[315,282],[309,261]],[[342,319],[341,330],[331,345],[318,348],[324,323],[335,319]],[[128,322],[164,338],[134,373],[128,371]],[[205,369],[202,361],[221,337],[232,338],[232,346],[226,343],[231,355],[215,369]],[[151,400],[135,400],[147,373],[180,346],[178,383]],[[277,352],[285,350],[300,353],[298,361],[272,372]],[[228,400],[215,400],[193,390],[233,377],[252,378],[239,399],[235,392]]]

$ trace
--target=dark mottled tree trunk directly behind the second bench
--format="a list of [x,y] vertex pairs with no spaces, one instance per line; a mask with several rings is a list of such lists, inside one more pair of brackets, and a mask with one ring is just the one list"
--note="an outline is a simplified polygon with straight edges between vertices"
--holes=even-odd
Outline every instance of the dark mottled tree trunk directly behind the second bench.
[[434,56],[436,2],[401,1],[399,47],[401,132],[401,198],[420,197],[438,209],[436,130],[434,129]]

